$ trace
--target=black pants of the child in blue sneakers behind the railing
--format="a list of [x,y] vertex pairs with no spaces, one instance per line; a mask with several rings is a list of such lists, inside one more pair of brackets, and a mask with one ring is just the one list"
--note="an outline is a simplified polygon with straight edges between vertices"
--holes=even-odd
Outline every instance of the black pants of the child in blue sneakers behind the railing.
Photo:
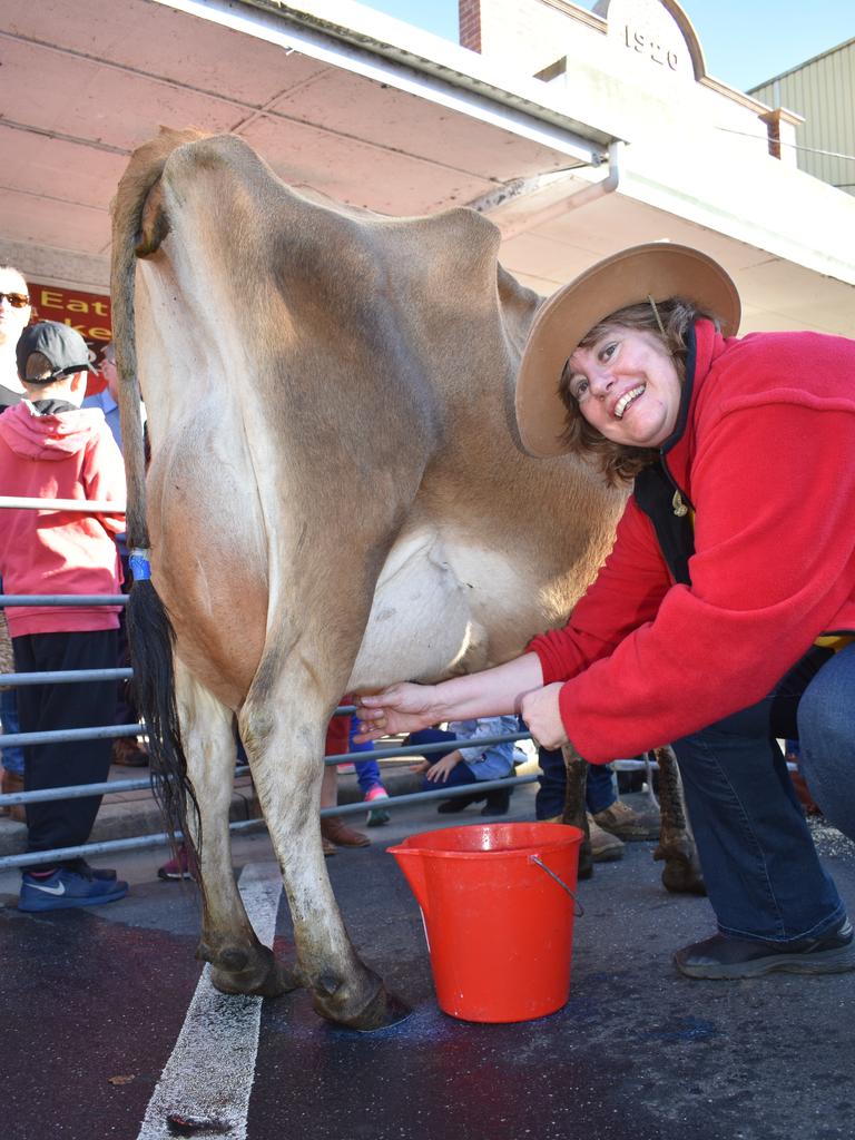
[[[18,673],[114,669],[116,665],[115,629],[25,634],[13,637],[11,643]],[[21,731],[52,732],[112,724],[115,702],[115,681],[22,685],[18,689]],[[112,743],[112,740],[106,739],[25,746],[25,791],[100,783],[109,775]],[[84,844],[92,830],[100,801],[100,796],[87,796],[82,799],[27,804],[27,850],[44,852]],[[74,866],[76,862],[66,860],[62,865]]]

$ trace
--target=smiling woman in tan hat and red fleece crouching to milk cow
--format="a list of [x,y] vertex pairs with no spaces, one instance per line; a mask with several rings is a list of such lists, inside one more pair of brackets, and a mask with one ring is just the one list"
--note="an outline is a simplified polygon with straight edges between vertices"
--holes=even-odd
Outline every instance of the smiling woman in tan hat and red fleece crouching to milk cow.
[[[364,699],[363,719],[397,733],[516,710],[542,744],[572,741],[593,764],[673,741],[718,926],[677,969],[853,970],[776,738],[800,738],[814,799],[855,837],[855,343],[740,340],[739,320],[725,270],[670,243],[606,258],[544,302],[520,438],[633,481],[612,552],[528,653],[396,685]],[[805,440],[822,462],[793,480]]]

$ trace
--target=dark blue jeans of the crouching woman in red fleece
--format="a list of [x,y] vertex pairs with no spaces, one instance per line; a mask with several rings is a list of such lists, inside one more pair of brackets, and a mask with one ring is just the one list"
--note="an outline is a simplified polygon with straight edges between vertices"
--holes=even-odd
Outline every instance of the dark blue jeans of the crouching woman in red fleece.
[[[855,837],[855,644],[809,653],[750,708],[674,744],[723,934],[815,937],[845,910],[820,864],[776,738],[796,736],[825,816]],[[798,725],[798,727],[797,727]]]

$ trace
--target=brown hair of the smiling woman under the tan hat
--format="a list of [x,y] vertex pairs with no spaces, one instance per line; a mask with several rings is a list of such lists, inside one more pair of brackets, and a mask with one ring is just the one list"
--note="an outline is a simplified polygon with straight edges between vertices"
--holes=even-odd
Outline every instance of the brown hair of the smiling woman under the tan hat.
[[[591,348],[601,336],[614,328],[632,328],[652,333],[674,360],[679,382],[683,384],[689,355],[689,329],[699,317],[706,317],[714,323],[716,328],[719,327],[717,317],[701,312],[690,301],[684,301],[681,298],[658,301],[656,309],[651,302],[643,301],[641,304],[630,304],[625,309],[619,309],[601,320],[587,333],[584,340],[579,341],[577,348]],[[559,381],[559,396],[567,408],[567,427],[562,437],[564,442],[571,450],[592,456],[609,483],[632,482],[640,471],[657,459],[659,450],[613,443],[595,427],[592,427],[580,414],[576,397],[570,391],[570,382],[575,373],[569,364],[568,360]]]

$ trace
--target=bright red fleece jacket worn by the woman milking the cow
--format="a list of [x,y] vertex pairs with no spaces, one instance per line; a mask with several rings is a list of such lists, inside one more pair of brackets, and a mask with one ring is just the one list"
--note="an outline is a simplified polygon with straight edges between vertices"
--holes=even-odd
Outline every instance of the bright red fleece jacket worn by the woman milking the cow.
[[663,456],[695,512],[691,587],[630,498],[570,622],[530,645],[544,684],[567,681],[561,718],[595,764],[755,703],[817,636],[855,630],[855,341],[697,334],[686,426]]

